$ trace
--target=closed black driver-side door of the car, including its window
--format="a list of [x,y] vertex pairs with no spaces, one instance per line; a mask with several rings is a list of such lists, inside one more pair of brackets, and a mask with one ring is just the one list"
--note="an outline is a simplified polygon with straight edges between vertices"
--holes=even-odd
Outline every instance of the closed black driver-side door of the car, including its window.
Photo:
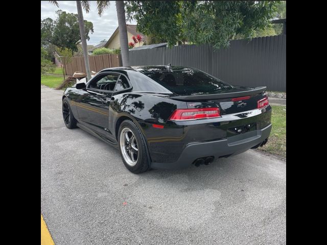
[[97,133],[109,136],[109,106],[119,74],[105,72],[92,78],[85,90],[79,91],[76,101],[81,124]]

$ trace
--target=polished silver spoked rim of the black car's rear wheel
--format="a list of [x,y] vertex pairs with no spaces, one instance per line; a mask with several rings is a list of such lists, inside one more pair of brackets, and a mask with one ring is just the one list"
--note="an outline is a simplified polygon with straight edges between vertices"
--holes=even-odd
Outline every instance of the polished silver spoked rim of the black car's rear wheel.
[[138,147],[135,135],[129,128],[121,131],[120,148],[126,163],[135,166],[138,159]]

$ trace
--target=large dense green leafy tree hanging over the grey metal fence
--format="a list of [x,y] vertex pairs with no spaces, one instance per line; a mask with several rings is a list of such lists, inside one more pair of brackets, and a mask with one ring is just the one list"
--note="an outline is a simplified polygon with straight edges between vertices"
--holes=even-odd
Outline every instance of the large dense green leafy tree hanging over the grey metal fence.
[[264,29],[277,11],[276,1],[127,1],[127,19],[137,30],[167,40],[188,40],[226,47],[236,35],[246,38]]

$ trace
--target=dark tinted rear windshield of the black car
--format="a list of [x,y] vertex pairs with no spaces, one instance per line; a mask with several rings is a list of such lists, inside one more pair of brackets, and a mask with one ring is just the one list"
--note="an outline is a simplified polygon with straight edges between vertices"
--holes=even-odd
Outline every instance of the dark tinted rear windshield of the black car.
[[232,88],[200,70],[153,71],[144,74],[178,95],[213,94]]

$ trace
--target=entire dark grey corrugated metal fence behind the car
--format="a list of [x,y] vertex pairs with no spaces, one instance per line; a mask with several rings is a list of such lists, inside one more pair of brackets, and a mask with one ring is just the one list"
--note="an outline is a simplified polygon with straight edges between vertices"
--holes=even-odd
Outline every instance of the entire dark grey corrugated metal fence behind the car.
[[130,51],[129,59],[134,66],[190,66],[232,85],[286,91],[286,35],[233,40],[228,48],[218,51],[211,45]]

